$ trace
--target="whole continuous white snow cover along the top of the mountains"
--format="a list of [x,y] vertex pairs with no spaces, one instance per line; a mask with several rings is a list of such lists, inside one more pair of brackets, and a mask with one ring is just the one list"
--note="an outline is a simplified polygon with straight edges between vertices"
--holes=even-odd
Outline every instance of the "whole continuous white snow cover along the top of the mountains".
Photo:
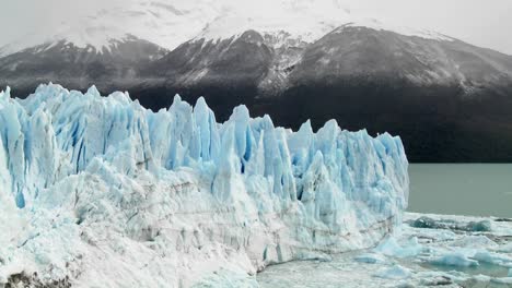
[[92,46],[103,51],[113,46],[112,41],[123,40],[128,35],[173,50],[191,38],[228,39],[248,29],[264,35],[284,32],[290,37],[312,43],[347,23],[445,38],[433,32],[393,27],[374,19],[360,17],[351,14],[349,7],[342,0],[102,1],[40,23],[9,43],[0,39],[0,55],[62,40],[79,48]]

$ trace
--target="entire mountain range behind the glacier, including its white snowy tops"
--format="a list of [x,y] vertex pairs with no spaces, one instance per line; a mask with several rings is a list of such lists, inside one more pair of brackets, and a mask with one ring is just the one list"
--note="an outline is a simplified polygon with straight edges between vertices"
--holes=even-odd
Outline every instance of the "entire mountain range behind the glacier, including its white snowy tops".
[[361,19],[339,1],[114,8],[4,46],[0,85],[23,96],[42,82],[96,84],[153,110],[176,93],[205,96],[221,121],[245,104],[293,129],[335,118],[399,134],[412,161],[512,160],[511,56]]

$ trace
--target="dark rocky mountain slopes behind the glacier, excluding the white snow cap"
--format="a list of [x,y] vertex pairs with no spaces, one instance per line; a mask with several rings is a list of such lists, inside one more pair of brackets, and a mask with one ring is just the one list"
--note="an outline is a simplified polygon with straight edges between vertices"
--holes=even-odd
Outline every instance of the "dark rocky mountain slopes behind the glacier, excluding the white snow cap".
[[103,94],[129,91],[153,110],[170,107],[175,94],[191,103],[205,96],[221,121],[245,104],[293,129],[335,118],[345,129],[399,134],[412,161],[512,160],[512,57],[385,28],[349,22],[301,38],[300,28],[279,25],[223,37],[200,37],[202,27],[174,49],[130,35],[102,53],[61,40],[1,57],[0,85],[22,96],[39,83],[82,91],[95,84]]

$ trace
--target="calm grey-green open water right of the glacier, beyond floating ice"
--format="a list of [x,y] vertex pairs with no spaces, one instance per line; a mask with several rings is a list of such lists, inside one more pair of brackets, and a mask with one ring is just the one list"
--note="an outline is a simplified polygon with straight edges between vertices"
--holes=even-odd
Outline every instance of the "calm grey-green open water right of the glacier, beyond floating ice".
[[512,218],[512,164],[410,164],[410,212]]

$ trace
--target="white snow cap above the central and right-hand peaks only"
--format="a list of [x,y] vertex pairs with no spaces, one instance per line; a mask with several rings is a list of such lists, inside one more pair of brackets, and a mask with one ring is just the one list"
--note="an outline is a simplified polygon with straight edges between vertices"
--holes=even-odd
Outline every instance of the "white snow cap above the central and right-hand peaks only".
[[[338,1],[258,1],[233,5],[208,23],[196,39],[218,41],[236,38],[254,29],[264,36],[288,34],[287,38],[313,43],[339,26],[362,26],[427,39],[452,40],[435,32],[388,25],[375,19],[353,15]],[[286,43],[271,46],[281,45]]]

